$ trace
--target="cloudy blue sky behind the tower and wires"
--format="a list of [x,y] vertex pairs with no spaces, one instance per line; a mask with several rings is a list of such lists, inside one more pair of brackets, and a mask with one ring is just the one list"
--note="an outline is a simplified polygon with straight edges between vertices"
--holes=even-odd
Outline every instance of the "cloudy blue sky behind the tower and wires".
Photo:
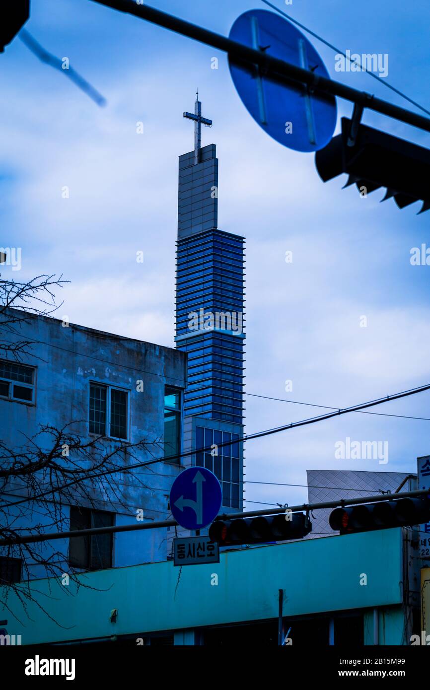
[[[387,81],[430,109],[426,0],[275,3],[342,50],[387,53]],[[242,12],[265,7],[153,5],[223,34]],[[219,228],[246,236],[246,390],[344,407],[430,382],[430,266],[410,264],[411,248],[430,245],[430,212],[380,204],[382,191],[360,199],[355,188],[341,189],[341,178],[322,184],[312,154],[283,148],[255,124],[225,55],[211,47],[90,0],[32,0],[26,28],[69,57],[108,106],[98,108],[19,39],[0,56],[1,244],[20,246],[23,261],[20,273],[3,275],[63,273],[71,282],[59,315],[173,346],[177,157],[193,148],[182,112],[193,110],[198,87],[203,115],[213,119],[202,144],[217,144],[219,157]],[[334,52],[313,44],[333,79],[409,107],[367,75],[335,72]],[[351,111],[338,101],[338,128]],[[395,120],[367,112],[364,123],[430,145],[426,132]],[[429,401],[423,393],[375,411],[430,417]],[[248,395],[246,431],[317,413]],[[389,442],[389,462],[335,459],[346,437]],[[246,478],[306,484],[306,469],[416,471],[416,457],[427,454],[430,422],[346,415],[249,442]],[[291,504],[306,491],[249,484],[246,497]]]

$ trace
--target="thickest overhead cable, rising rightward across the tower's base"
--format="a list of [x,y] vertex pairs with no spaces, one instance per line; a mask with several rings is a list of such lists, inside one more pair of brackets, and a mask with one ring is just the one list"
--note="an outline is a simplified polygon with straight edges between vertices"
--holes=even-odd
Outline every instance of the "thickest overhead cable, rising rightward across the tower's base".
[[[386,397],[381,397],[378,398],[377,400],[371,400],[369,402],[364,402],[360,405],[354,405],[348,408],[340,409],[335,412],[330,412],[326,413],[325,415],[319,415],[317,417],[310,417],[307,420],[300,420],[300,422],[291,422],[291,424],[284,424],[282,426],[275,426],[274,428],[271,429],[266,429],[264,431],[258,431],[253,434],[246,434],[242,437],[239,437],[237,441],[226,441],[223,443],[217,444],[218,448],[224,448],[225,446],[231,446],[232,443],[240,443],[244,441],[251,441],[256,438],[263,438],[265,436],[269,436],[275,433],[280,433],[281,431],[289,431],[292,428],[298,428],[300,426],[308,426],[309,424],[316,424],[317,422],[324,422],[325,420],[330,420],[332,417],[338,417],[340,415],[346,415],[351,412],[356,412],[358,410],[362,410],[364,408],[369,408],[373,407],[375,405],[380,405],[385,402],[390,402],[392,400],[399,400],[402,397],[409,397],[411,395],[416,395],[417,393],[423,393],[424,391],[429,391],[430,389],[430,384],[427,384],[425,386],[418,386],[416,388],[411,388],[409,391],[402,391],[401,393],[395,393],[394,395],[387,395]],[[46,496],[48,494],[53,494],[56,491],[63,491],[64,489],[68,489],[69,486],[73,486],[76,484],[79,484],[81,481],[86,481],[90,479],[97,479],[97,477],[104,477],[106,475],[112,475],[117,472],[129,472],[130,470],[137,469],[139,467],[146,467],[148,465],[155,464],[156,462],[169,462],[169,461],[175,461],[177,462],[178,460],[181,460],[182,457],[189,457],[190,455],[195,455],[197,452],[207,452],[210,453],[212,451],[212,446],[206,446],[206,448],[202,449],[192,449],[190,451],[185,451],[183,453],[177,453],[175,455],[166,455],[165,457],[159,457],[156,458],[155,460],[146,460],[145,462],[137,462],[133,465],[128,465],[127,467],[117,467],[109,470],[105,470],[103,472],[98,472],[92,475],[87,475],[86,477],[81,477],[80,479],[77,480],[71,480],[70,482],[67,482],[66,484],[62,484],[61,486],[51,486],[51,488],[48,491],[44,491],[42,493],[39,493],[35,496],[32,497],[27,497],[23,498],[20,501],[14,502],[14,503],[9,503],[6,504],[6,507],[8,506],[13,506],[21,503],[27,503],[28,501],[31,500],[37,500],[38,498],[41,498],[43,496]]]

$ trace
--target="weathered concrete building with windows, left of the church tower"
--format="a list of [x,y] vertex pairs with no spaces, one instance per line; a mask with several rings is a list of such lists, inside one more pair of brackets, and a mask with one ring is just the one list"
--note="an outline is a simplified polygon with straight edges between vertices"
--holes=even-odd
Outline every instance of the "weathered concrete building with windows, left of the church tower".
[[[101,437],[99,447],[105,455],[141,441],[145,441],[144,447],[135,453],[139,462],[179,453],[186,384],[184,353],[50,317],[24,319],[8,339],[28,341],[30,346],[21,362],[0,362],[0,437],[6,447],[18,449],[25,442],[24,435],[31,438],[41,425],[61,430],[73,422],[70,428],[83,442]],[[45,433],[38,440],[50,448],[50,435]],[[115,462],[126,467],[136,460],[130,452],[121,451]],[[28,504],[28,510],[20,505],[10,508],[10,515],[14,511],[18,515],[10,524],[24,531],[35,524],[41,531],[68,531],[135,524],[137,511],[144,522],[165,520],[171,517],[168,495],[179,471],[177,458],[142,467],[133,475],[119,472],[115,490],[101,480],[91,501],[79,487],[74,498],[73,489],[70,501],[61,502],[55,525],[51,516],[44,517],[37,510],[37,502]],[[9,482],[3,502],[16,502],[27,493],[26,486]],[[99,569],[167,558],[166,530],[129,532],[121,539],[99,535],[86,542],[79,538],[70,540],[70,545],[68,541],[61,546],[59,542],[41,546],[45,559],[50,560],[57,551],[66,556],[66,562],[56,563],[59,572],[67,573],[70,564]],[[5,557],[14,554],[4,547],[0,556],[4,573],[8,567]],[[14,579],[19,579],[21,565],[14,564]],[[28,574],[41,578],[46,573],[42,564],[33,562]]]

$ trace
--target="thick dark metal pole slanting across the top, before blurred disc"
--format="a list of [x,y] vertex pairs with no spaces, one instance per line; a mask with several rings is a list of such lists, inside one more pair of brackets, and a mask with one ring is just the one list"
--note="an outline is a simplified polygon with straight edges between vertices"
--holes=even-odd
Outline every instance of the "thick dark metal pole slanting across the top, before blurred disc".
[[146,19],[146,21],[157,24],[157,26],[163,26],[166,29],[175,31],[176,33],[187,36],[200,43],[206,43],[208,46],[213,46],[213,48],[228,52],[228,55],[239,62],[242,61],[244,63],[259,66],[263,70],[263,73],[270,75],[271,78],[286,83],[291,83],[291,81],[295,83],[305,83],[313,90],[330,93],[333,96],[339,96],[352,103],[357,103],[363,108],[375,110],[375,112],[380,112],[382,115],[393,117],[406,124],[430,132],[430,119],[427,117],[418,115],[416,112],[411,112],[406,108],[394,106],[393,103],[375,98],[375,96],[365,91],[358,91],[357,89],[345,86],[340,83],[340,81],[319,77],[315,75],[314,72],[284,62],[284,60],[270,57],[266,55],[266,52],[248,48],[248,46],[244,46],[237,41],[232,41],[221,34],[209,31],[208,29],[204,29],[201,26],[184,21],[178,17],[173,17],[172,14],[160,12],[159,10],[155,10],[155,8],[148,7],[148,5],[137,5],[133,0],[92,0],[92,2],[110,7],[113,10],[119,10],[119,12],[133,14],[135,17],[139,17],[139,19]]

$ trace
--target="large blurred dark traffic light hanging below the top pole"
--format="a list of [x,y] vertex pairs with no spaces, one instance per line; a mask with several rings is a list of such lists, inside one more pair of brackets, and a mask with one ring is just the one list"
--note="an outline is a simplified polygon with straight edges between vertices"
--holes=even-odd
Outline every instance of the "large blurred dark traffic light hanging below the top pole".
[[345,187],[355,184],[362,196],[387,188],[382,201],[393,197],[399,208],[423,201],[430,208],[430,151],[409,141],[359,124],[351,137],[351,120],[342,117],[342,134],[315,154],[322,181],[349,175]]

